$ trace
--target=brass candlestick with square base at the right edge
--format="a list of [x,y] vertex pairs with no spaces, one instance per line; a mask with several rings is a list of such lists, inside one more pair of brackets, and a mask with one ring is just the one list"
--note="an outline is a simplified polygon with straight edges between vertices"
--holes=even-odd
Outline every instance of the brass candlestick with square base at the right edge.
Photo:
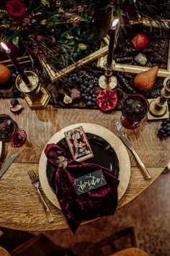
[[169,108],[167,101],[170,98],[170,77],[164,80],[164,88],[161,95],[156,99],[149,99],[148,120],[169,118]]

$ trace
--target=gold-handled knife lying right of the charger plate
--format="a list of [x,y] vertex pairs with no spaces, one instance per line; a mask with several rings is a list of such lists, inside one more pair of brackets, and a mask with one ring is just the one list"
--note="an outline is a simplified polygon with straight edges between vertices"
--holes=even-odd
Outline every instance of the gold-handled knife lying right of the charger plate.
[[149,174],[144,163],[140,160],[138,154],[135,152],[132,143],[128,139],[127,135],[125,135],[125,133],[122,132],[122,126],[119,122],[116,123],[116,128],[117,128],[117,132],[119,133],[122,142],[124,142],[125,145],[132,151],[133,155],[135,156],[136,160],[138,161],[138,164],[140,165],[140,168],[142,170],[142,174],[143,174],[144,178],[151,179],[151,175]]

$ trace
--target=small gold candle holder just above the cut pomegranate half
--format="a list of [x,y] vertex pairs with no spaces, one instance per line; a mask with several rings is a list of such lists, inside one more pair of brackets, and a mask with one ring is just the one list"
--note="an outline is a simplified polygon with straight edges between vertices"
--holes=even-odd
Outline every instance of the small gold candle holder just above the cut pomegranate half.
[[117,78],[112,75],[112,69],[115,69],[115,61],[112,61],[112,65],[109,67],[107,66],[107,61],[104,61],[103,67],[105,72],[99,77],[99,87],[102,89],[114,89],[117,86]]

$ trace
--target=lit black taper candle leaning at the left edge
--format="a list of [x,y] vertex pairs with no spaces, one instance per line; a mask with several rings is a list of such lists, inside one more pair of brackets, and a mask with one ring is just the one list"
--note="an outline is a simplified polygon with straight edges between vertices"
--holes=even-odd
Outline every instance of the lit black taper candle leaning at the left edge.
[[9,49],[5,43],[1,43],[1,47],[4,48],[4,50],[6,51],[6,54],[8,54],[9,58],[12,60],[14,67],[19,72],[20,76],[22,77],[23,82],[26,85],[30,85],[30,80],[28,79],[27,75],[24,74],[24,71],[22,70],[22,67],[19,65],[17,59],[15,59],[14,56],[12,55],[11,49]]

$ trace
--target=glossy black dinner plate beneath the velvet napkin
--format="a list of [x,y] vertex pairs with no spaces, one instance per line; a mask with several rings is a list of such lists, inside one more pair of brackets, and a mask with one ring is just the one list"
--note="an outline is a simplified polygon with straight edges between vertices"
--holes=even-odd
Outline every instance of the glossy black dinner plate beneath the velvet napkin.
[[[102,137],[98,135],[91,134],[86,132],[86,137],[89,140],[89,144],[91,145],[91,150],[94,153],[93,158],[86,159],[85,163],[97,163],[99,166],[104,166],[105,168],[109,168],[112,170],[112,174],[118,179],[119,171],[120,171],[120,164],[117,158],[117,154],[112,146],[104,140]],[[61,139],[57,145],[66,153],[66,157],[68,159],[73,159],[71,152],[68,148],[68,144],[66,142],[65,137]],[[46,164],[46,175],[48,179],[48,184],[50,188],[55,193],[55,172],[56,166],[53,166],[49,161]]]

